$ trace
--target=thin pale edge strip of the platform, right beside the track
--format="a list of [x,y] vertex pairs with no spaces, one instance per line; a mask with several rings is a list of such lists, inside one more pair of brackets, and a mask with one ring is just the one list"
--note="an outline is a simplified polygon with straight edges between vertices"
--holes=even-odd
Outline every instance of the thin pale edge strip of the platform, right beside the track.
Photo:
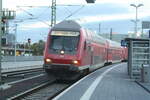
[[[120,65],[120,64],[119,64]],[[116,65],[114,67],[117,67],[119,65]],[[110,68],[113,69],[114,67]],[[107,70],[106,70],[107,71]],[[56,96],[55,98],[53,98],[52,100],[58,100],[61,96],[63,96],[65,93],[67,93],[70,89],[72,89],[73,87],[75,87],[77,84],[79,84],[82,80],[84,80],[85,78],[89,77],[90,75],[93,75],[94,73],[96,73],[97,71],[85,76],[84,78],[80,79],[78,82],[74,83],[72,86],[70,86],[69,88],[67,88],[66,90],[64,90],[62,93],[60,93],[58,96]],[[86,100],[86,99],[85,99]]]

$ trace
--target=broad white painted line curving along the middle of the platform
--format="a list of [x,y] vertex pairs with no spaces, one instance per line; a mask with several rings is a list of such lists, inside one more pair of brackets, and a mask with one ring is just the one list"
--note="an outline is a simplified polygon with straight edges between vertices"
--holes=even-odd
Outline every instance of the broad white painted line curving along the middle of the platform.
[[[119,64],[120,65],[120,64]],[[80,100],[90,100],[93,92],[95,91],[98,84],[101,82],[103,77],[112,69],[118,67],[119,65],[116,65],[112,68],[107,69],[105,72],[103,72],[98,78],[95,79],[95,81],[90,85],[90,87],[86,90],[86,92],[83,94],[83,96],[80,98]]]

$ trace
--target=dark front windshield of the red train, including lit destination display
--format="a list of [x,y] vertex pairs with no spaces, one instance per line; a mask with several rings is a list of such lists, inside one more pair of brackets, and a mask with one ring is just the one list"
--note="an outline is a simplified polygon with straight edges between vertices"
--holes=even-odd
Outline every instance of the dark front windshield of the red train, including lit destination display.
[[50,51],[60,53],[61,50],[66,54],[75,54],[79,42],[79,32],[71,31],[52,31]]

